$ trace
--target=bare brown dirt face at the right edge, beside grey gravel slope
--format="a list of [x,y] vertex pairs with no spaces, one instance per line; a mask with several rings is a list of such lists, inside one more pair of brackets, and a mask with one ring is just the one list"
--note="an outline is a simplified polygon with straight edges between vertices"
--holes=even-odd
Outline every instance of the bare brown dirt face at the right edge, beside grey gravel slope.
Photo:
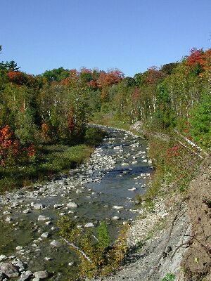
[[189,190],[191,239],[181,266],[186,280],[211,280],[211,159],[202,165],[200,176]]

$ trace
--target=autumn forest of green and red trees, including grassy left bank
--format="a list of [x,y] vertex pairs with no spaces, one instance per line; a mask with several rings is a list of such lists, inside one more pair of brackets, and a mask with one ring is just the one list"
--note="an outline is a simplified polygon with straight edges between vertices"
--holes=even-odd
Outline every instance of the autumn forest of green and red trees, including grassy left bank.
[[[117,69],[59,67],[39,75],[20,69],[13,60],[0,63],[1,190],[81,162],[101,141],[102,133],[87,123],[103,118],[139,121],[145,133],[177,132],[211,150],[211,49],[193,48],[177,63],[134,77]],[[180,149],[171,143],[165,154],[175,157]]]

